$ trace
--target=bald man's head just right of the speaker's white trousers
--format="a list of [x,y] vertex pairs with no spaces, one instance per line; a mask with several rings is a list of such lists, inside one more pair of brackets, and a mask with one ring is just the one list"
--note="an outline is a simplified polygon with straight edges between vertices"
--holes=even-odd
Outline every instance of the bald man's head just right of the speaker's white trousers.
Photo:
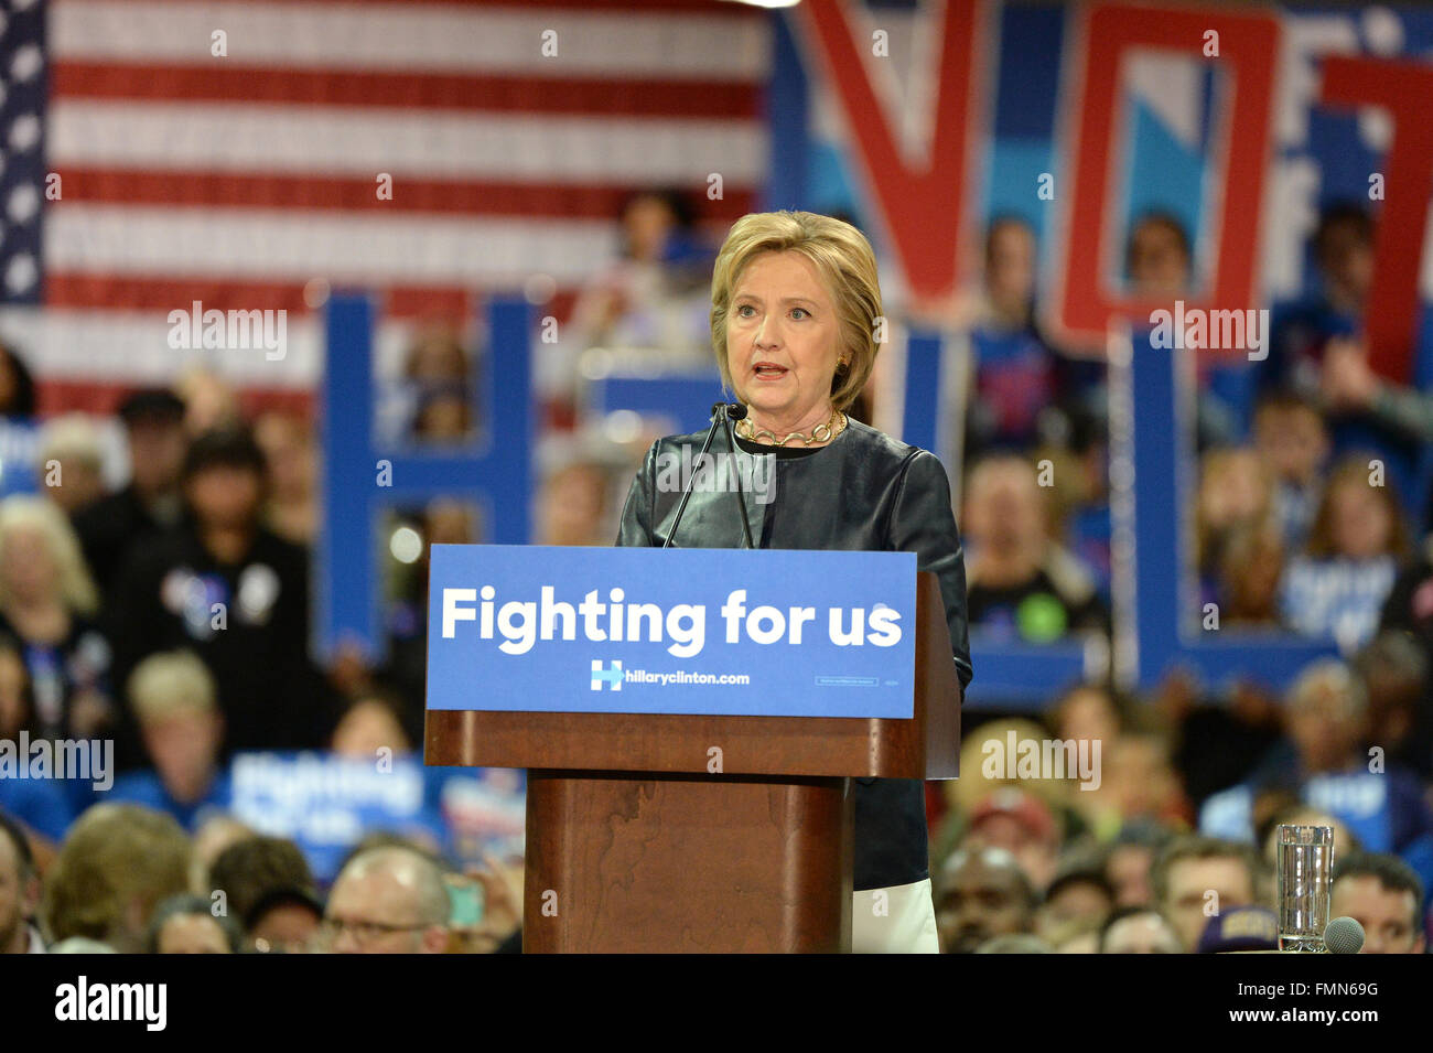
[[946,954],[972,954],[997,936],[1033,934],[1039,897],[1003,848],[957,850],[940,867],[936,920]]

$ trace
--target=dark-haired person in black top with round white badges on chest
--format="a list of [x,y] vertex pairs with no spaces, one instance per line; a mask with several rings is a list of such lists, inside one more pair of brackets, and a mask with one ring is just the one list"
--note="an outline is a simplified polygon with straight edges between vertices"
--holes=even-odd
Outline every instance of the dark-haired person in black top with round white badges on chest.
[[332,719],[308,656],[308,559],[262,526],[265,484],[248,431],[195,438],[183,464],[189,520],[133,553],[109,605],[120,676],[185,648],[209,668],[225,752],[317,748]]

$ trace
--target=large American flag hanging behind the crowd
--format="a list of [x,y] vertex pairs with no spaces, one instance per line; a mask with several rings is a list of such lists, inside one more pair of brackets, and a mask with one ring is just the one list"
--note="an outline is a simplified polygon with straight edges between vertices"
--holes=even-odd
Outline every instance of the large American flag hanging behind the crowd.
[[[189,364],[166,317],[289,312],[289,354],[208,352],[302,394],[311,304],[466,318],[546,275],[560,318],[643,186],[757,206],[771,16],[708,0],[9,0],[0,335],[42,410],[107,408]],[[391,179],[391,199],[381,193]],[[380,332],[381,340],[381,332]]]

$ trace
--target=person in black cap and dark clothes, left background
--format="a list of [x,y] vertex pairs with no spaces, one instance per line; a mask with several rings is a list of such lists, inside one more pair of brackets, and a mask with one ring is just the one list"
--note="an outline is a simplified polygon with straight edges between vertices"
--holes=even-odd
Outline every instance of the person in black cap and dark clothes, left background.
[[129,483],[73,517],[85,562],[106,593],[130,549],[179,524],[179,470],[188,443],[183,414],[183,403],[168,388],[136,391],[119,404]]

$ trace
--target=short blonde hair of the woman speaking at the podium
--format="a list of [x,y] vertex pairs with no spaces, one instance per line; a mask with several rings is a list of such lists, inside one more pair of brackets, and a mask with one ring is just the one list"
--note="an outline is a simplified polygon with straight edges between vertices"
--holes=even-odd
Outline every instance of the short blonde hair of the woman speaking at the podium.
[[831,380],[831,405],[844,410],[866,387],[880,351],[876,327],[883,319],[881,287],[871,244],[850,223],[815,212],[751,212],[732,223],[712,268],[712,350],[728,390],[727,312],[732,291],[747,266],[765,252],[798,252],[825,282],[840,322],[840,350],[848,360]]

